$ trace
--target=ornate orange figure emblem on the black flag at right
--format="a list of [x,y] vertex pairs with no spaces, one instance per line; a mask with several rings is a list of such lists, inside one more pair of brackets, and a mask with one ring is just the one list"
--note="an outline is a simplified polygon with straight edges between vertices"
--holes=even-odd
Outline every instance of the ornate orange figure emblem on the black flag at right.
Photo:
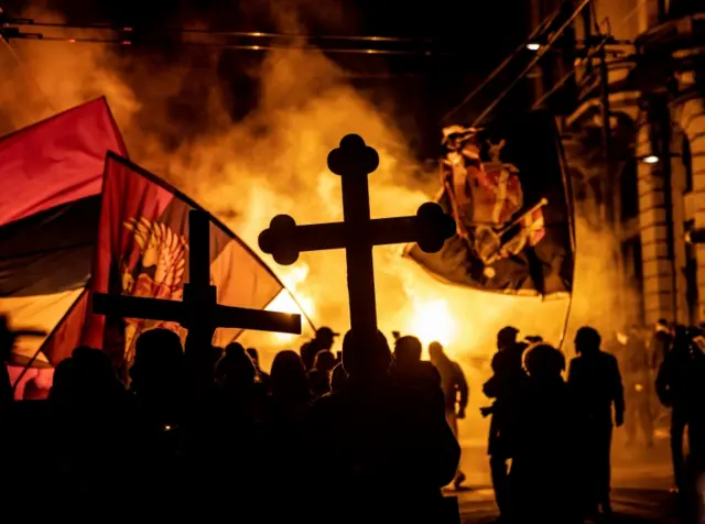
[[441,177],[457,233],[484,263],[485,275],[492,277],[494,263],[543,238],[542,208],[547,200],[525,209],[519,168],[501,160],[505,140],[480,142],[475,128],[454,125],[444,131],[447,154]]

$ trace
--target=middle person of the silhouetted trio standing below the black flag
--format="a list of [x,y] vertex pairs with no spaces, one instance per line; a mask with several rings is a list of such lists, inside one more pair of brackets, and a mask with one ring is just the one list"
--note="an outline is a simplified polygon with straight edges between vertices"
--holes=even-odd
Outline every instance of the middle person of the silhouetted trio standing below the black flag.
[[547,343],[536,343],[527,350],[524,367],[529,378],[510,428],[510,522],[583,522],[574,500],[574,481],[581,472],[571,460],[575,427],[568,386],[561,374],[565,357]]

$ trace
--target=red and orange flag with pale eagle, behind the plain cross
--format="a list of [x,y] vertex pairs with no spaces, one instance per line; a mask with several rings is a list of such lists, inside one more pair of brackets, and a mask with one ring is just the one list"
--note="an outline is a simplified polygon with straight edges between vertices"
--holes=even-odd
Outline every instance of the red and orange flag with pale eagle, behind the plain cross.
[[[117,154],[105,165],[102,204],[90,290],[112,295],[131,295],[180,301],[188,281],[188,211],[203,209],[155,175]],[[263,309],[284,288],[272,271],[238,237],[210,218],[210,279],[218,303]],[[78,309],[64,324],[85,318],[80,341],[107,351],[117,365],[129,362],[140,332],[153,327],[180,331],[176,324],[93,315]],[[53,348],[70,347],[66,337]],[[237,329],[218,329],[216,343],[225,345]]]

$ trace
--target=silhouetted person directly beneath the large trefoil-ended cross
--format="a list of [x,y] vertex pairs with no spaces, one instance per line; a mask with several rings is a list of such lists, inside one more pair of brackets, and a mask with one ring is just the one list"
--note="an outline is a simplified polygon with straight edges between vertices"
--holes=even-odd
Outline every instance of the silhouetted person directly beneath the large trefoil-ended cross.
[[443,522],[441,488],[455,477],[459,447],[441,397],[392,383],[390,362],[381,332],[369,346],[348,332],[346,387],[312,404],[321,522]]

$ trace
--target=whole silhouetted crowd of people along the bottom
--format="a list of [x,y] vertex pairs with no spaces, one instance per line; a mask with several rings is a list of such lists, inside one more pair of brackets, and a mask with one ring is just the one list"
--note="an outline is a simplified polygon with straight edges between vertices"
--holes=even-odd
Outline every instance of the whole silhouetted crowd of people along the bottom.
[[[570,363],[541,337],[518,335],[499,331],[481,387],[500,520],[609,518],[612,428],[629,425],[630,446],[653,446],[653,393],[671,412],[682,515],[696,522],[702,329],[663,321],[603,341],[583,327]],[[462,367],[438,342],[422,360],[413,336],[397,336],[392,351],[381,332],[360,343],[350,331],[337,356],[336,337],[318,329],[300,352],[279,352],[270,373],[254,348],[203,348],[209,380],[196,383],[180,337],[156,328],[139,337],[129,384],[107,353],[79,347],[56,365],[48,395],[28,381],[23,401],[13,401],[2,367],[7,500],[41,501],[54,518],[459,522],[447,494],[469,489],[459,468],[457,422],[469,396]],[[3,319],[6,361],[13,343]]]

